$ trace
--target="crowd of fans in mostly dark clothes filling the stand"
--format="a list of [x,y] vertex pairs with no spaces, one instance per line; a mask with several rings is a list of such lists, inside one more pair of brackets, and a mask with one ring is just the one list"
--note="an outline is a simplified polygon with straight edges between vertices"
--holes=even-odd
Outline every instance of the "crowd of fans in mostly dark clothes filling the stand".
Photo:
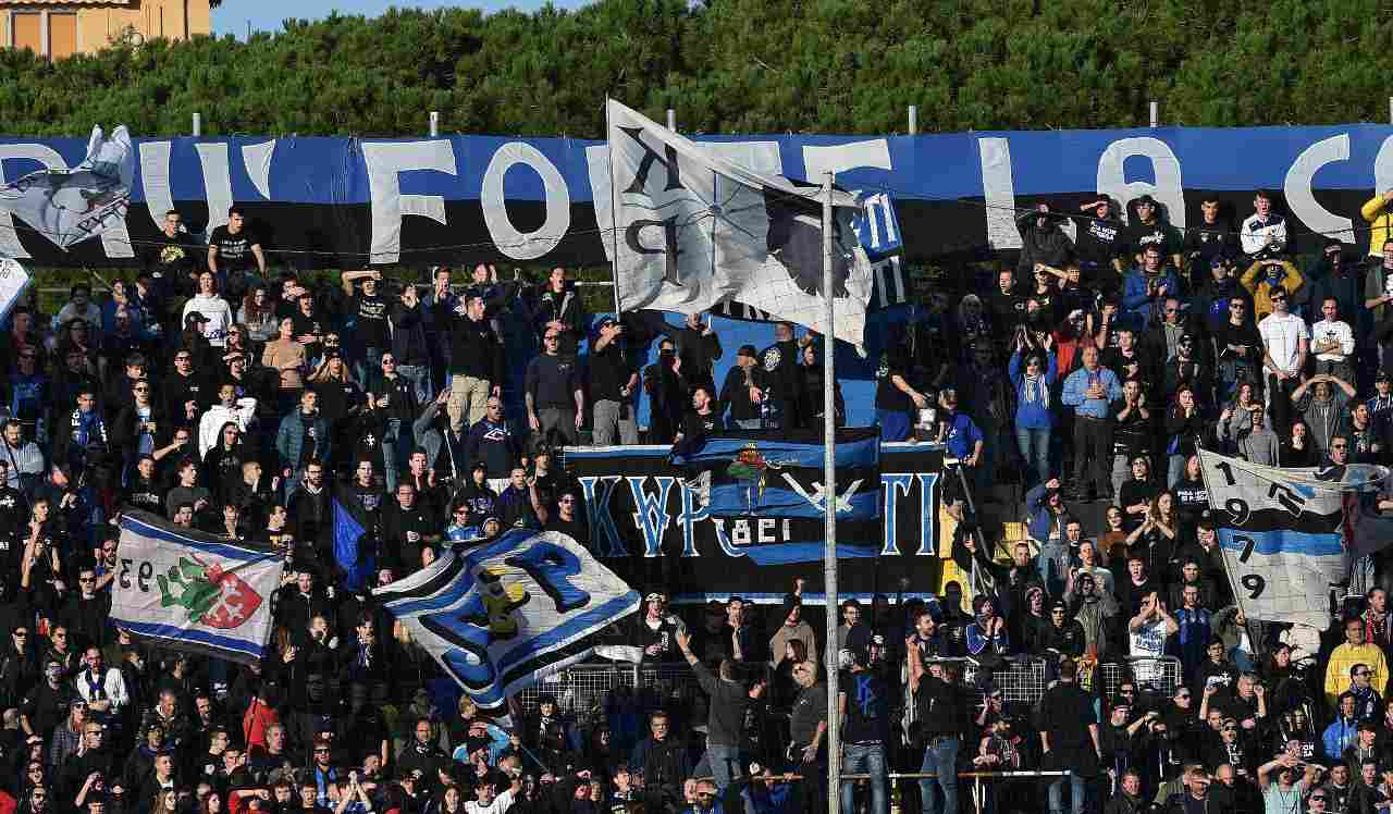
[[[940,442],[964,474],[946,478],[970,485],[944,498],[954,558],[989,587],[847,602],[830,633],[802,617],[801,581],[781,606],[734,598],[687,620],[656,587],[612,636],[694,680],[588,707],[514,698],[511,721],[439,708],[435,668],[371,588],[504,528],[588,542],[561,446],[815,425],[822,340],[779,325],[717,387],[709,321],[592,319],[563,269],[313,287],[267,270],[237,208],[208,244],[170,212],[134,280],[102,298],[74,286],[52,316],[31,301],[0,337],[0,810],[820,810],[827,669],[843,771],[866,775],[840,790],[846,814],[957,814],[968,769],[1070,772],[990,783],[993,811],[1383,810],[1382,562],[1357,563],[1340,602],[1311,598],[1328,630],[1244,617],[1195,450],[1389,463],[1390,201],[1364,209],[1364,258],[1337,241],[1295,256],[1262,192],[1241,226],[1206,199],[1183,233],[1149,197],[1128,224],[1085,205],[1077,238],[1048,206],[1027,213],[1014,270],[932,294],[887,341],[875,394],[882,438]],[[995,562],[995,486],[1015,481],[1025,505],[1006,513],[1028,539]],[[334,559],[334,500],[366,530],[361,585]],[[266,659],[111,626],[130,509],[286,553]],[[820,663],[829,634],[837,665]],[[1049,687],[1015,708],[997,679],[1021,658],[1043,659]]]

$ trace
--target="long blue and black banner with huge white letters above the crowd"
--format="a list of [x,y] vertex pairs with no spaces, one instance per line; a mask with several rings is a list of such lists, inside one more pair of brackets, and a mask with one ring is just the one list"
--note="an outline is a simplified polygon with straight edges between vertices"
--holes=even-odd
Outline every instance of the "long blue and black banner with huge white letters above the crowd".
[[[818,181],[833,170],[843,188],[893,197],[893,215],[865,223],[862,243],[875,256],[886,254],[876,247],[903,240],[911,261],[1018,248],[1015,210],[1039,201],[1078,213],[1099,194],[1119,202],[1151,194],[1184,227],[1199,223],[1205,194],[1217,194],[1237,223],[1256,188],[1276,192],[1298,245],[1312,245],[1314,233],[1364,245],[1360,205],[1393,188],[1393,127],[1378,124],[695,141],[765,174]],[[602,141],[138,138],[135,149],[123,224],[64,252],[63,236],[0,201],[0,256],[131,263],[167,209],[210,230],[226,223],[234,202],[247,208],[267,251],[298,265],[603,265],[613,245],[613,208],[593,192],[606,188],[610,166]],[[0,184],[71,169],[86,151],[77,138],[0,139]],[[897,265],[876,273],[872,305],[901,295]]]

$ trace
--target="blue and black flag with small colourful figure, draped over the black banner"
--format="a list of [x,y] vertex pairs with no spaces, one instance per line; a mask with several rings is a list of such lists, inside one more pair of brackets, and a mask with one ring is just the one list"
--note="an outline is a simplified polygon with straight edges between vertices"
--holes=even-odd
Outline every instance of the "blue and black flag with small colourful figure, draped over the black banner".
[[696,484],[717,534],[758,565],[823,556],[823,519],[837,513],[837,556],[880,551],[880,439],[875,428],[839,429],[836,482],[823,484],[820,431],[727,432],[673,449]]

